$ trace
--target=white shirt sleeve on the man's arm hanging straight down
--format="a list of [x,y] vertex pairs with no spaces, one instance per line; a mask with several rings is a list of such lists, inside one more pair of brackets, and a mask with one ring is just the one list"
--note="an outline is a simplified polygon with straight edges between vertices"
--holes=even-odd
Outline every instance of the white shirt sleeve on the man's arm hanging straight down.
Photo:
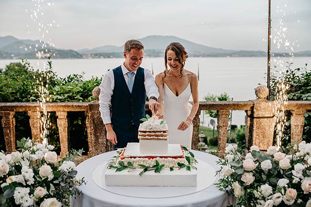
[[110,107],[109,104],[111,102],[112,91],[114,88],[114,76],[113,71],[109,70],[104,74],[102,83],[100,85],[101,93],[99,96],[99,104],[101,117],[104,121],[104,124],[111,123],[110,119]]

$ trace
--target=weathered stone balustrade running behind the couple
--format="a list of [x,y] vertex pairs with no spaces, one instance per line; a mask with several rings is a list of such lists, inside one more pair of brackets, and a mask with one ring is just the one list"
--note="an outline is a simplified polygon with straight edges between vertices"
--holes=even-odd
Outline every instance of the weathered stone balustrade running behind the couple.
[[[93,90],[93,96],[97,99],[90,103],[47,103],[47,111],[56,111],[57,126],[59,130],[60,155],[68,152],[68,111],[85,111],[86,126],[88,133],[89,152],[88,157],[99,155],[112,150],[111,143],[106,140],[106,131],[99,111],[100,89]],[[245,111],[246,144],[247,147],[258,145],[261,150],[266,150],[272,145],[274,129],[274,103],[264,99],[265,89],[257,88],[258,99],[250,101],[230,102],[200,102],[199,110],[193,119],[192,149],[198,149],[199,125],[201,110],[218,111],[218,151],[217,155],[222,157],[226,147],[228,132],[228,116],[230,110]],[[304,114],[311,110],[311,101],[289,101],[284,106],[285,110],[292,112],[291,116],[291,139],[292,142],[300,143],[304,127]],[[146,110],[149,110],[148,103]],[[28,111],[32,137],[40,140],[40,119],[37,111],[41,111],[37,103],[0,103],[1,126],[5,139],[6,152],[15,151],[15,118],[16,111]]]

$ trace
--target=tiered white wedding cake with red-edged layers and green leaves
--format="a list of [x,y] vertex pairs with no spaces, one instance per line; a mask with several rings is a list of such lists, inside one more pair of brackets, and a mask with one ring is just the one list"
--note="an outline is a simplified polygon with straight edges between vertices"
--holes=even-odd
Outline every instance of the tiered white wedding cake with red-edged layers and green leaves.
[[164,120],[147,118],[139,127],[139,143],[128,143],[107,164],[106,186],[197,186],[194,155],[168,144]]

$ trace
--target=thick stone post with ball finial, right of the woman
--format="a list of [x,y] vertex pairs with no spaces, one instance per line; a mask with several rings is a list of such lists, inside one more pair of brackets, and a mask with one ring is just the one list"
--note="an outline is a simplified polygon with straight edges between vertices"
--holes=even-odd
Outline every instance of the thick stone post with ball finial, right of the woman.
[[255,90],[258,99],[251,101],[254,103],[253,117],[251,122],[252,142],[249,145],[257,145],[260,150],[267,150],[273,144],[273,134],[275,125],[274,103],[270,102],[265,97],[269,91],[265,86],[258,86]]

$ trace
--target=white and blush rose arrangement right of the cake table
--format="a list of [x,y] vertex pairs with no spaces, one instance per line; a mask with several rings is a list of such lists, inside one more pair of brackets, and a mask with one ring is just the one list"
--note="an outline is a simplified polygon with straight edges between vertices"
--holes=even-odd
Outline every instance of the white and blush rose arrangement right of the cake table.
[[234,195],[237,207],[311,207],[311,144],[272,146],[266,153],[252,146],[246,155],[226,148],[215,185]]

